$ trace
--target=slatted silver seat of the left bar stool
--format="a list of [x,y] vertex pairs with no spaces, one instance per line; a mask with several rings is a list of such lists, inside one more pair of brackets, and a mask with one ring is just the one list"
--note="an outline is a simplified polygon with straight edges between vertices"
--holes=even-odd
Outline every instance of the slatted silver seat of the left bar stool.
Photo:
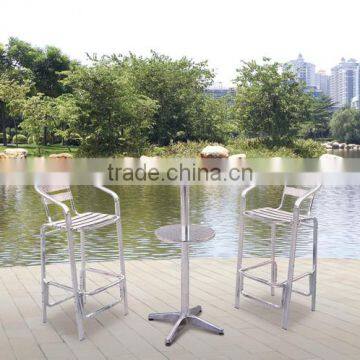
[[[72,231],[80,231],[101,228],[106,225],[114,224],[118,219],[119,217],[117,215],[86,212],[71,218],[70,229]],[[58,229],[66,229],[66,221],[54,221],[51,222],[49,226],[54,226]]]

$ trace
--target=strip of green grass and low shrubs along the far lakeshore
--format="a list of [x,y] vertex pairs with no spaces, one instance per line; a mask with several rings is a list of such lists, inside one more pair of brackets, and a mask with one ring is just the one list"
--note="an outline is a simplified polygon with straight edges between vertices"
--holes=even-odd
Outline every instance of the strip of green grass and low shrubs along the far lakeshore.
[[[142,155],[160,156],[160,157],[183,157],[193,158],[199,157],[201,151],[208,145],[213,143],[206,141],[188,141],[177,142],[168,146],[150,145],[145,149]],[[326,153],[326,149],[320,142],[314,140],[281,140],[272,141],[266,138],[243,139],[235,138],[229,140],[223,146],[229,150],[230,155],[245,154],[247,158],[271,158],[271,157],[293,157],[293,158],[316,158]],[[15,145],[9,146],[15,148]],[[78,147],[68,147],[62,145],[41,146],[39,149],[35,145],[19,145],[28,151],[29,157],[49,156],[51,154],[71,153],[77,156]],[[0,153],[6,147],[0,145]],[[116,156],[136,156],[131,153],[117,154]]]

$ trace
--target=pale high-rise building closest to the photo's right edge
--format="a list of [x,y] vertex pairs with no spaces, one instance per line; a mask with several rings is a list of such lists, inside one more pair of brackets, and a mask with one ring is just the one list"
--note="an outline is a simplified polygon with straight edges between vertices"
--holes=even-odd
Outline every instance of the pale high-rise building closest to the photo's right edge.
[[356,95],[356,74],[359,64],[355,59],[345,61],[331,69],[330,97],[337,107],[350,106]]

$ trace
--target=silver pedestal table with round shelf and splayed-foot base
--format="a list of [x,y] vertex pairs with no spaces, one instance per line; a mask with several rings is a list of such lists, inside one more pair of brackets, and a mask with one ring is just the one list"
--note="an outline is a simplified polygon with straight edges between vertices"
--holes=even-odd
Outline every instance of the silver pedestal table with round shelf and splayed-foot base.
[[170,346],[179,333],[180,328],[192,325],[219,335],[224,330],[197,317],[201,306],[189,307],[189,243],[207,241],[215,236],[214,230],[207,226],[190,225],[189,222],[189,186],[181,185],[181,224],[163,226],[155,231],[157,238],[168,243],[181,243],[181,310],[176,312],[149,314],[149,320],[174,322],[172,330],[165,339],[165,345]]

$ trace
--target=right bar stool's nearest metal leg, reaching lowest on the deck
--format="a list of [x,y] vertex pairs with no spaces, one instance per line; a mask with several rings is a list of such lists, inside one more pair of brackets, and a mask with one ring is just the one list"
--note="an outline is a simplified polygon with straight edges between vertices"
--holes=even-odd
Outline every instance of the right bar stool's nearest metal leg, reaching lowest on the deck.
[[290,300],[292,293],[292,283],[294,277],[297,233],[298,233],[298,222],[294,221],[292,223],[292,229],[291,229],[291,243],[290,243],[287,284],[284,288],[283,314],[282,314],[282,324],[281,324],[281,327],[284,330],[287,329],[289,323],[289,308],[290,308]]

